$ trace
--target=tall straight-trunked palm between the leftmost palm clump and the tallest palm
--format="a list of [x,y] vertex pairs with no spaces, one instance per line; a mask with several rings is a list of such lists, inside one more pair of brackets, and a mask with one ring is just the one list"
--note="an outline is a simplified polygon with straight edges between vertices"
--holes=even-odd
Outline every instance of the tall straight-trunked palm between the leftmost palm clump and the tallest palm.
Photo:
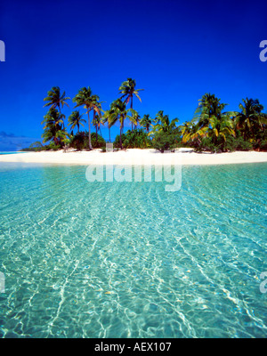
[[76,106],[74,108],[77,108],[78,106],[85,106],[86,113],[88,115],[88,127],[89,127],[89,150],[93,150],[92,143],[91,143],[91,125],[90,125],[90,116],[89,112],[91,110],[97,112],[98,115],[101,116],[101,111],[99,109],[99,96],[98,95],[93,95],[92,90],[90,86],[88,88],[83,87],[81,88],[77,95],[73,98],[73,101],[76,102]]

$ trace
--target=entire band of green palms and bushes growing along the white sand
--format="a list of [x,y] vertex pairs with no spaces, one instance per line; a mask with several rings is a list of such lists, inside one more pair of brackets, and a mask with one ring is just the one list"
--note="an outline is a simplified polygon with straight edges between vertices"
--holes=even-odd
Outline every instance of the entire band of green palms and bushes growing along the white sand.
[[[69,97],[53,87],[44,98],[44,107],[49,107],[44,116],[44,134],[42,142],[33,143],[25,150],[104,150],[105,140],[101,135],[101,125],[110,130],[118,123],[120,131],[114,143],[115,148],[155,148],[160,151],[174,150],[187,146],[197,151],[224,152],[232,150],[267,150],[267,114],[257,99],[243,99],[239,111],[225,111],[227,104],[222,103],[214,94],[206,93],[199,100],[194,117],[182,125],[178,119],[170,119],[164,111],[158,111],[155,118],[149,114],[140,117],[134,109],[134,97],[141,101],[135,80],[128,78],[118,88],[120,98],[112,101],[110,109],[104,111],[102,101],[93,94],[88,86],[81,88],[73,98],[74,110],[68,117],[69,132],[65,125],[65,115],[61,112],[64,105],[69,106]],[[127,106],[130,108],[127,108]],[[77,108],[83,107],[84,113]],[[93,113],[91,120],[90,113]],[[84,114],[87,116],[85,120]],[[124,134],[125,120],[129,120],[132,129]],[[88,131],[80,131],[87,121]],[[94,132],[92,133],[92,125]],[[74,131],[77,130],[76,134]],[[46,144],[45,144],[46,143]]]

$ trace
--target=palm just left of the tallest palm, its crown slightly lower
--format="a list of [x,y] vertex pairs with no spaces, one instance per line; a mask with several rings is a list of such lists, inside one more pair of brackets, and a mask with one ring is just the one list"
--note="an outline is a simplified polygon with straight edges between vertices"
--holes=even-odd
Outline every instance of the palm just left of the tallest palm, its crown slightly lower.
[[[129,116],[128,113],[131,112],[132,116]],[[105,117],[108,117],[109,127],[114,125],[117,121],[120,123],[119,129],[119,142],[120,148],[122,149],[122,134],[124,129],[125,118],[129,118],[131,122],[136,125],[136,121],[134,116],[136,115],[136,111],[134,109],[126,109],[125,101],[121,101],[117,99],[113,101],[110,105],[110,109],[106,111]]]

